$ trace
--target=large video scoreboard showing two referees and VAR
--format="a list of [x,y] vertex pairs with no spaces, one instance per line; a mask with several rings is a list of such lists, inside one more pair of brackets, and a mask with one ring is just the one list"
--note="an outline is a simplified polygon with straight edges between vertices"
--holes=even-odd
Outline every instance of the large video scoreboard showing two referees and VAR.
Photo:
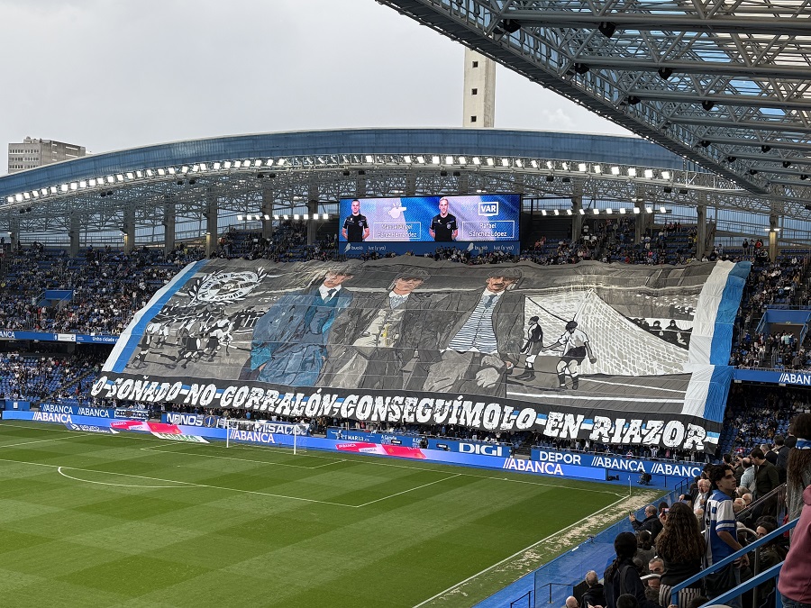
[[381,250],[360,247],[370,243],[436,243],[432,250],[440,243],[468,246],[515,241],[517,246],[521,195],[344,198],[339,210],[339,240],[351,244],[348,251]]

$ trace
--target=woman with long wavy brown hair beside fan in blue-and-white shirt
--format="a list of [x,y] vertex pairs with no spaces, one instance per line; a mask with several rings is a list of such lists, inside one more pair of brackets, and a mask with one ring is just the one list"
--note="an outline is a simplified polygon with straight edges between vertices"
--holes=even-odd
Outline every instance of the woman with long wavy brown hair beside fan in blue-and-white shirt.
[[[656,537],[656,554],[664,562],[661,576],[659,603],[670,605],[670,589],[697,575],[706,552],[704,536],[698,531],[698,520],[692,509],[684,503],[670,507],[664,528]],[[699,583],[679,591],[679,608],[686,608],[690,600],[701,594]]]

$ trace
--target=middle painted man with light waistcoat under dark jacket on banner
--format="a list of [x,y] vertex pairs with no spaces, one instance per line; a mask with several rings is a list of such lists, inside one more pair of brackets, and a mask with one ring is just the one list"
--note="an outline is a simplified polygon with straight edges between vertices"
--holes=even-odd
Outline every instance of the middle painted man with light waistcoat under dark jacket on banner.
[[413,292],[427,278],[415,268],[399,274],[387,292],[355,293],[330,332],[318,386],[402,389],[403,367],[414,358],[414,349],[403,348],[403,330],[424,307],[426,296]]

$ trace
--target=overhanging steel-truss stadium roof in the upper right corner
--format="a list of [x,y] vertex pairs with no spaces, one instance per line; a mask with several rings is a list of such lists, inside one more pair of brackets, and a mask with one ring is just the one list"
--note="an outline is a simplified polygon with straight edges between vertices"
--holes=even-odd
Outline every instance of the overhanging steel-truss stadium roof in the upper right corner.
[[776,213],[811,195],[808,0],[380,2],[770,195]]

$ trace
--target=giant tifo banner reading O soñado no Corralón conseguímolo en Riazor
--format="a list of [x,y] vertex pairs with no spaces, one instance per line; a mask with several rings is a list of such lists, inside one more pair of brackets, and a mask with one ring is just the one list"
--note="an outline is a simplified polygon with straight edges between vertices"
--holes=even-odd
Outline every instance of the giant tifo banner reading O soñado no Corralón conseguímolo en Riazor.
[[711,451],[749,269],[204,260],[93,395]]

